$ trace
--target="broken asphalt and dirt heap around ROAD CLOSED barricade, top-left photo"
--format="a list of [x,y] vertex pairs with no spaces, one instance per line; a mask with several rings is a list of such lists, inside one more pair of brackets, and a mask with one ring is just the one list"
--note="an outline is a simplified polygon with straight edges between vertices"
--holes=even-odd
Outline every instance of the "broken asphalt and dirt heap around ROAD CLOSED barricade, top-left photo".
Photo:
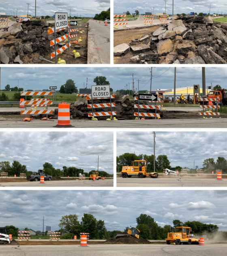
[[[87,31],[84,24],[83,29]],[[48,34],[49,27],[54,27],[53,24],[48,21],[26,21],[21,23],[15,23],[10,27],[0,29],[0,63],[4,64],[48,64],[49,62],[44,61],[55,61],[51,59],[51,52],[54,52],[54,46],[50,46],[50,41],[54,39],[54,33]],[[75,26],[71,26],[75,29]],[[66,35],[66,30],[61,30],[56,33],[56,37]],[[75,35],[76,32],[71,32],[71,35]],[[66,61],[66,64],[87,63],[87,35],[88,33],[78,33],[77,40],[81,37],[79,45],[74,43],[71,44],[69,54],[60,54],[60,58]],[[75,39],[75,38],[74,38]],[[71,42],[74,41],[71,39]],[[64,46],[64,41],[57,43],[57,49]],[[73,50],[79,49],[80,56],[84,58],[75,59]],[[68,50],[65,50],[68,53]],[[59,55],[57,56],[59,59]]]

